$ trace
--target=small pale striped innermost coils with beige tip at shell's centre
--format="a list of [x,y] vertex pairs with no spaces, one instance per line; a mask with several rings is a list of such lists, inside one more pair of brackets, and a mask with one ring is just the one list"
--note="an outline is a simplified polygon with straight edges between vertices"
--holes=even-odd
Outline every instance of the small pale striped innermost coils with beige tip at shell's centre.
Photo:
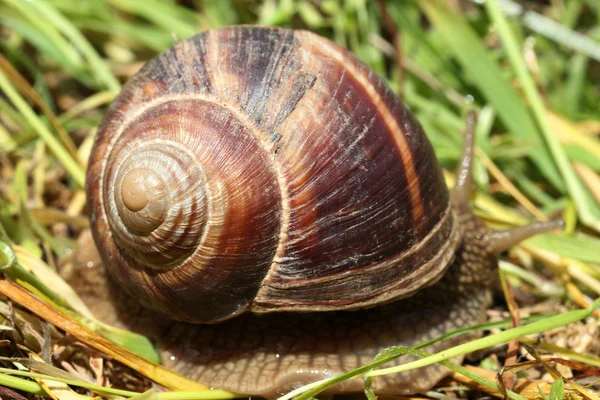
[[[124,133],[121,140],[127,137]],[[137,263],[163,270],[184,261],[200,244],[210,198],[200,161],[190,151],[147,138],[134,135],[109,157],[115,174],[107,175],[114,182],[105,184],[112,189],[107,215],[120,248]]]

